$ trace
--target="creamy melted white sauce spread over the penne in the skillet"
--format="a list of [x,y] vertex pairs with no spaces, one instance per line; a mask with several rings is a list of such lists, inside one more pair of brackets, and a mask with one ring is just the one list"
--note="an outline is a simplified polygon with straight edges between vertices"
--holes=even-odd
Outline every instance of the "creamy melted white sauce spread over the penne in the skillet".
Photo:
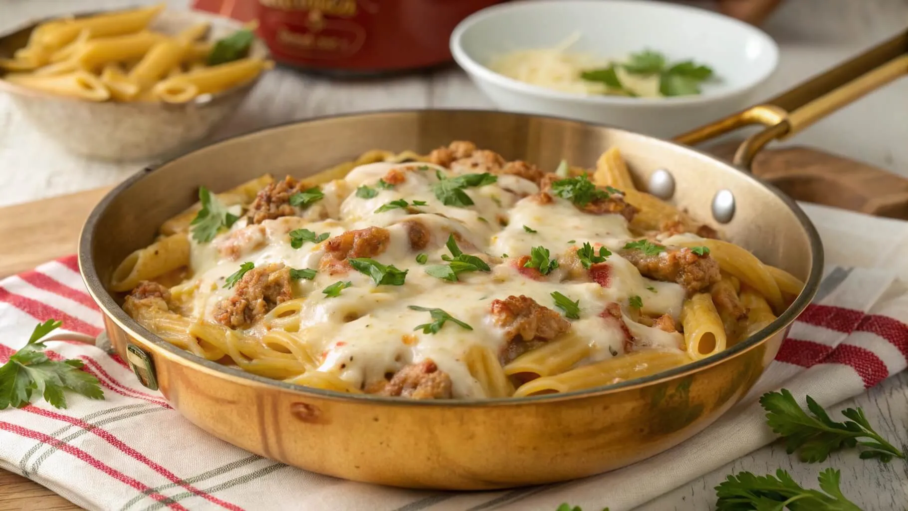
[[[403,171],[405,181],[390,189],[377,187],[376,183],[391,169]],[[628,300],[639,296],[644,313],[653,317],[670,314],[677,319],[685,294],[677,284],[641,277],[630,262],[617,255],[627,241],[635,239],[621,215],[588,214],[557,197],[551,203],[540,204],[528,196],[538,192],[537,185],[514,175],[498,176],[497,183],[466,189],[475,202],[472,206],[447,206],[432,191],[432,185],[439,181],[437,170],[445,176],[454,175],[423,163],[362,165],[344,180],[321,187],[325,198],[310,207],[321,208],[318,213],[306,210],[301,217],[284,217],[261,225],[238,221],[211,243],[192,242],[190,282],[198,286],[195,315],[212,319],[215,304],[232,295],[232,290],[223,288],[224,280],[239,270],[243,262],[252,262],[256,267],[282,262],[293,269],[318,270],[325,241],[305,242],[300,249],[293,249],[288,233],[294,229],[336,236],[344,231],[379,226],[388,229],[390,242],[387,250],[374,259],[408,270],[404,285],[376,287],[370,277],[356,270],[333,276],[320,271],[314,280],[299,280],[294,285],[297,296],[304,300],[300,331],[292,335],[318,359],[318,370],[333,372],[354,387],[366,388],[410,363],[431,359],[449,374],[455,398],[484,397],[479,383],[469,374],[464,354],[477,344],[494,352],[505,347],[504,333],[494,324],[489,307],[493,300],[505,300],[511,295],[526,295],[553,310],[558,310],[551,297],[553,291],[570,300],[579,300],[580,317],[570,319],[571,331],[572,335],[587,339],[592,354],[578,365],[625,351],[622,329],[616,322],[600,317],[610,302],[617,302],[625,311],[625,322],[638,344],[680,346],[680,334],[634,323],[627,316]],[[374,189],[375,197],[358,197],[355,192],[360,186]],[[426,204],[415,206],[416,212],[406,209],[375,212],[397,200],[411,205],[413,201]],[[315,220],[326,213],[331,216],[329,220]],[[429,228],[429,244],[424,250],[411,249],[403,221],[420,221]],[[507,226],[502,227],[499,221]],[[524,225],[536,232],[524,230]],[[259,233],[250,232],[254,230]],[[262,230],[264,242],[260,236]],[[490,272],[460,273],[458,282],[439,280],[426,273],[429,265],[446,264],[441,256],[449,254],[445,242],[452,232],[457,232],[463,240],[459,246],[464,253],[479,255],[489,262]],[[241,240],[235,251],[240,255],[236,259],[222,255],[219,247],[236,240]],[[586,272],[581,278],[568,278],[567,270],[558,269],[544,280],[534,280],[526,270],[521,272],[516,268],[518,258],[528,255],[533,247],[545,247],[551,259],[558,259],[584,242],[604,245],[613,252],[607,259],[608,287],[590,280]],[[425,265],[416,261],[419,252],[428,255]],[[508,258],[500,257],[506,253]],[[352,286],[335,298],[321,292],[339,280],[349,280]],[[429,312],[410,310],[410,305],[445,310],[469,324],[472,330],[449,321],[436,334],[423,333],[416,328],[432,321]]]

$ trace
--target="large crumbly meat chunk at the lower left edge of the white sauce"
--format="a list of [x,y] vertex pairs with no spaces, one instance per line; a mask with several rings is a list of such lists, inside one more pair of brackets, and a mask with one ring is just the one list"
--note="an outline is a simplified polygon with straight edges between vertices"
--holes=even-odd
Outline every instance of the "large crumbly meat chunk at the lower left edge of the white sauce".
[[247,327],[293,298],[290,283],[290,269],[280,262],[253,268],[236,284],[232,297],[214,306],[214,320],[231,329]]

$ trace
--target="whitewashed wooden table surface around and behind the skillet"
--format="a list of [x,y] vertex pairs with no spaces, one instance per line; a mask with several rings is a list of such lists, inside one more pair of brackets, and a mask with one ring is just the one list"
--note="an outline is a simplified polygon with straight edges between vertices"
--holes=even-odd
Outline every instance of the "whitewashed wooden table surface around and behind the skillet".
[[[147,0],[0,0],[0,31],[26,19],[80,10],[148,3]],[[186,0],[169,0],[184,7]],[[708,2],[699,2],[706,5]],[[786,0],[764,26],[782,46],[778,72],[765,96],[778,93],[908,26],[908,0]],[[232,121],[212,139],[273,123],[331,113],[419,107],[489,107],[489,101],[456,69],[387,80],[338,83],[279,69],[256,89]],[[835,113],[790,143],[812,145],[908,175],[908,80]],[[91,162],[44,140],[0,95],[0,205],[111,184],[140,164]],[[11,242],[11,241],[0,241]],[[908,444],[908,376],[890,378],[844,406],[864,408],[871,423],[893,444]],[[843,472],[843,490],[865,510],[908,509],[908,462],[889,465],[859,460],[853,452],[824,466]],[[715,504],[713,487],[726,474],[757,474],[782,467],[805,486],[815,486],[819,467],[797,462],[784,448],[769,446],[677,488],[641,509],[695,510]],[[644,482],[641,482],[644,484]],[[606,503],[607,504],[607,503]]]

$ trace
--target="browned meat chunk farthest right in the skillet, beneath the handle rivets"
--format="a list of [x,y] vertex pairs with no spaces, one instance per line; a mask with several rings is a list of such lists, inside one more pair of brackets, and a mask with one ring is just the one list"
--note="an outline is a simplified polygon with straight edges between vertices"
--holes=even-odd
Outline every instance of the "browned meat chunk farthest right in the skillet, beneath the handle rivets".
[[719,281],[719,264],[709,254],[696,255],[688,248],[668,248],[656,255],[643,251],[625,250],[621,256],[629,260],[640,274],[653,280],[677,282],[688,293],[706,290]]

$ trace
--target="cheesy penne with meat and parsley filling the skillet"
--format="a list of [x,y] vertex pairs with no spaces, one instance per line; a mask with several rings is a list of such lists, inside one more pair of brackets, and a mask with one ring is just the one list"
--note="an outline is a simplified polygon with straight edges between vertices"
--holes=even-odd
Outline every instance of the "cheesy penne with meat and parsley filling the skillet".
[[123,309],[205,359],[312,388],[507,398],[704,359],[803,283],[634,187],[616,148],[546,172],[472,142],[271,175],[164,222]]

